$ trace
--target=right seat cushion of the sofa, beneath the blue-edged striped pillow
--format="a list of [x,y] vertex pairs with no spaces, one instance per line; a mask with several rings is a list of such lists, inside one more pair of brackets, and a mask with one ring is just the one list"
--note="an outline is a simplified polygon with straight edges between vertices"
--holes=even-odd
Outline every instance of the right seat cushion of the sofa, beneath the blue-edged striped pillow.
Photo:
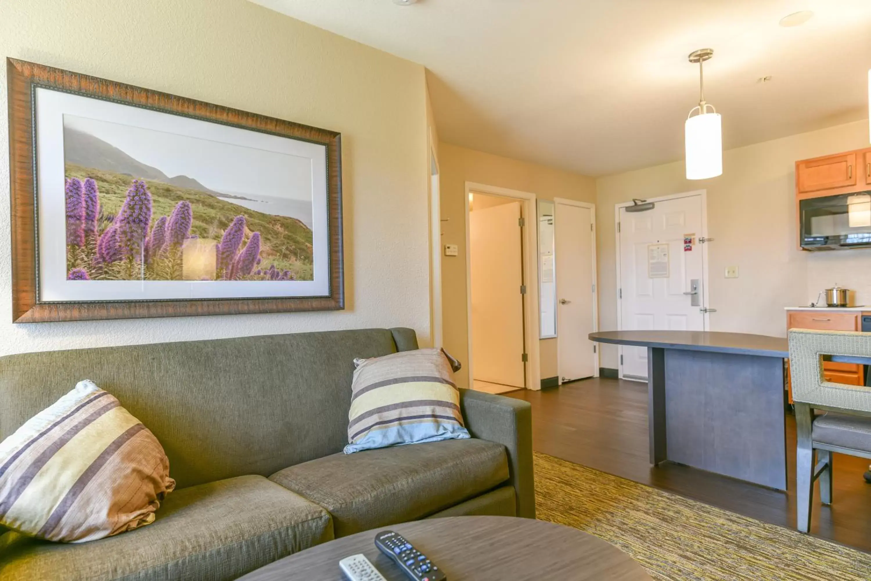
[[336,537],[426,517],[508,480],[502,444],[470,438],[334,454],[269,479],[320,504]]

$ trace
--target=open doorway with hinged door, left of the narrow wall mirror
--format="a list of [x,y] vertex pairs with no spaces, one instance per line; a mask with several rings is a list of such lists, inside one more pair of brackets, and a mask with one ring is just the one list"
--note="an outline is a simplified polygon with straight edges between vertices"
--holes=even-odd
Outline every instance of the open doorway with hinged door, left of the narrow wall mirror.
[[535,196],[466,186],[469,387],[540,388]]

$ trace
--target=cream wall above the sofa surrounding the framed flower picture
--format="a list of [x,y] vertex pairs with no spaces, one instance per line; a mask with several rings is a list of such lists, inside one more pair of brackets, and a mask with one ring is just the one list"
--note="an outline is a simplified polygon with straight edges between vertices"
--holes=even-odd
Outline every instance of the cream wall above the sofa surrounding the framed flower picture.
[[[342,134],[339,312],[12,325],[9,152],[0,123],[0,355],[402,325],[429,342],[423,67],[244,0],[3,0],[0,55]],[[6,111],[5,75],[0,111]]]

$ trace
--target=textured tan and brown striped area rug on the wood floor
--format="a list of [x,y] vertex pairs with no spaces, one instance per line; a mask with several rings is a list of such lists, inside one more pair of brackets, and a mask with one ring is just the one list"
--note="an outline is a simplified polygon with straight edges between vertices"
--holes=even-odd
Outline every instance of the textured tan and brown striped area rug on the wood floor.
[[871,579],[871,555],[535,455],[537,517],[626,551],[656,579]]

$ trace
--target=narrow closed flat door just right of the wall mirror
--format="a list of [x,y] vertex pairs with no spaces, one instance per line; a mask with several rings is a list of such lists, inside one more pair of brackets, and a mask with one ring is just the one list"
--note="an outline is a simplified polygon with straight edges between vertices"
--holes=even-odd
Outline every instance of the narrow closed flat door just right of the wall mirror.
[[557,367],[563,382],[596,374],[593,332],[591,208],[558,203],[554,210],[557,264]]

